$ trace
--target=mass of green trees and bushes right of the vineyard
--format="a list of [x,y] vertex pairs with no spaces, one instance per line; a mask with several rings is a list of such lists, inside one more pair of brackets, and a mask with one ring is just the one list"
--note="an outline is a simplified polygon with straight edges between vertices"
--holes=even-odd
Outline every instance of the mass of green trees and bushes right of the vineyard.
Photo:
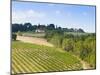
[[[74,34],[75,32],[73,32]],[[95,68],[96,35],[95,33],[83,33],[77,35],[64,34],[57,30],[46,32],[45,38],[56,47],[79,56]]]

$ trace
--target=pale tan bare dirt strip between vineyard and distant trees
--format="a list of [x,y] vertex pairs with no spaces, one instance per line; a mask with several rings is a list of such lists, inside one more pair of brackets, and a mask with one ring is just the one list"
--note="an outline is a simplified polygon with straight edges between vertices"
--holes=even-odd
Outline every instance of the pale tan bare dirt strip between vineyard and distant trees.
[[37,45],[45,45],[45,46],[53,47],[51,43],[47,42],[47,40],[43,38],[17,36],[17,40],[20,40],[22,42],[27,42],[27,43],[33,43]]

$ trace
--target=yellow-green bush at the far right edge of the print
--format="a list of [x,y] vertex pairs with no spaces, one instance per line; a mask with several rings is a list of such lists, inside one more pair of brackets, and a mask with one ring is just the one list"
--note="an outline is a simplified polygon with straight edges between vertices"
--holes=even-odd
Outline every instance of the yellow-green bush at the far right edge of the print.
[[94,36],[88,37],[85,42],[84,46],[88,48],[88,54],[84,58],[85,61],[87,61],[91,67],[96,67],[96,40]]

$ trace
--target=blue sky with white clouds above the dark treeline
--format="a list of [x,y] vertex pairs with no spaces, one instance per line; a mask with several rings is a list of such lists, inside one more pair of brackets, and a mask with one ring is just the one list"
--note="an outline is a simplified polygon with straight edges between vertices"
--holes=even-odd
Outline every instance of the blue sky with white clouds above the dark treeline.
[[95,6],[12,1],[12,23],[26,22],[95,32]]

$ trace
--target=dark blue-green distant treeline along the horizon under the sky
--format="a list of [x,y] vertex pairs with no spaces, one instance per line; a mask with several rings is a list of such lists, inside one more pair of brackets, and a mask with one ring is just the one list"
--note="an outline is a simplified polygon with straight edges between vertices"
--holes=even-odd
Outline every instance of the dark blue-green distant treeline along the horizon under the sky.
[[47,24],[47,25],[32,25],[31,23],[24,23],[24,24],[12,24],[12,32],[26,32],[26,31],[33,31],[35,32],[36,29],[44,30],[45,32],[48,30],[60,30],[64,32],[81,32],[84,33],[84,30],[79,28],[79,29],[74,29],[74,28],[62,28],[62,27],[57,27],[57,25],[54,24]]

